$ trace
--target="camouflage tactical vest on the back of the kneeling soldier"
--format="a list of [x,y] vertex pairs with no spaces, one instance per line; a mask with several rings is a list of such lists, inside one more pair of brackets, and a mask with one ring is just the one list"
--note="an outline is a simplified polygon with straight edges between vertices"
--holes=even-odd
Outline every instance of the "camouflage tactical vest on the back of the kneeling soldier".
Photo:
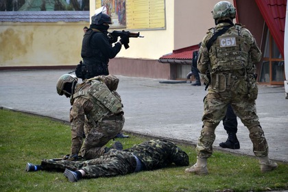
[[119,95],[113,94],[104,82],[88,80],[88,82],[84,82],[84,84],[86,83],[91,83],[88,91],[80,88],[73,97],[75,99],[81,96],[92,101],[93,109],[86,114],[89,120],[96,122],[111,112],[116,115],[122,112],[121,98]]

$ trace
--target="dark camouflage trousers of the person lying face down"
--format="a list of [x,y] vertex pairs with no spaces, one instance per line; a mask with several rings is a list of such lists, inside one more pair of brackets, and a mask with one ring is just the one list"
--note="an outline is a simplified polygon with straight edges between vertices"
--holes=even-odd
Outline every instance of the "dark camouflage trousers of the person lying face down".
[[47,171],[83,169],[87,178],[110,177],[133,173],[136,168],[136,158],[130,152],[111,149],[99,158],[86,161],[44,159],[41,167]]

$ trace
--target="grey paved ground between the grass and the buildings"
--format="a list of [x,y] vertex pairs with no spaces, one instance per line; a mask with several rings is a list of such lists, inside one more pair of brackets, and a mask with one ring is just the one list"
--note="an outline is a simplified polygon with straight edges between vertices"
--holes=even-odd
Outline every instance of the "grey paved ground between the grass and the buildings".
[[[0,71],[0,107],[69,121],[69,99],[56,93],[56,82],[69,70]],[[124,130],[197,143],[202,127],[204,86],[166,84],[163,80],[118,76],[118,93],[125,111]],[[288,99],[283,86],[259,86],[256,100],[261,126],[269,144],[269,156],[288,162]],[[252,153],[248,130],[239,120],[237,134],[241,149],[224,151]],[[215,149],[226,141],[223,125],[216,130]]]

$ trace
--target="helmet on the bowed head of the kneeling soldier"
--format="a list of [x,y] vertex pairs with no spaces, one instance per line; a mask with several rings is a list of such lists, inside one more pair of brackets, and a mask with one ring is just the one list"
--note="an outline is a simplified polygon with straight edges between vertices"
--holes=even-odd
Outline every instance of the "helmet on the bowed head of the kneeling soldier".
[[[57,93],[59,95],[64,95],[64,93],[67,93],[67,90],[65,90],[65,85],[71,84],[71,86],[69,87],[69,89],[71,90],[71,88],[77,83],[77,80],[78,79],[75,75],[71,75],[71,74],[62,75],[61,77],[59,77],[59,80],[56,85]],[[71,95],[72,93],[69,93],[69,94]]]

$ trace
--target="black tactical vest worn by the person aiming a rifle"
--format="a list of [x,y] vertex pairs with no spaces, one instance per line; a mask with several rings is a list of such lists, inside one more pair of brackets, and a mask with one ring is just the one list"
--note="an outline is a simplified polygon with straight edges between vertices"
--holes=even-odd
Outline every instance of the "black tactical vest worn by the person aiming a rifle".
[[84,34],[84,38],[82,40],[82,49],[81,49],[81,57],[82,58],[98,58],[98,60],[103,60],[103,54],[99,49],[92,49],[90,45],[90,40],[95,33],[100,33],[97,31],[93,31],[92,29],[88,29],[88,31]]

